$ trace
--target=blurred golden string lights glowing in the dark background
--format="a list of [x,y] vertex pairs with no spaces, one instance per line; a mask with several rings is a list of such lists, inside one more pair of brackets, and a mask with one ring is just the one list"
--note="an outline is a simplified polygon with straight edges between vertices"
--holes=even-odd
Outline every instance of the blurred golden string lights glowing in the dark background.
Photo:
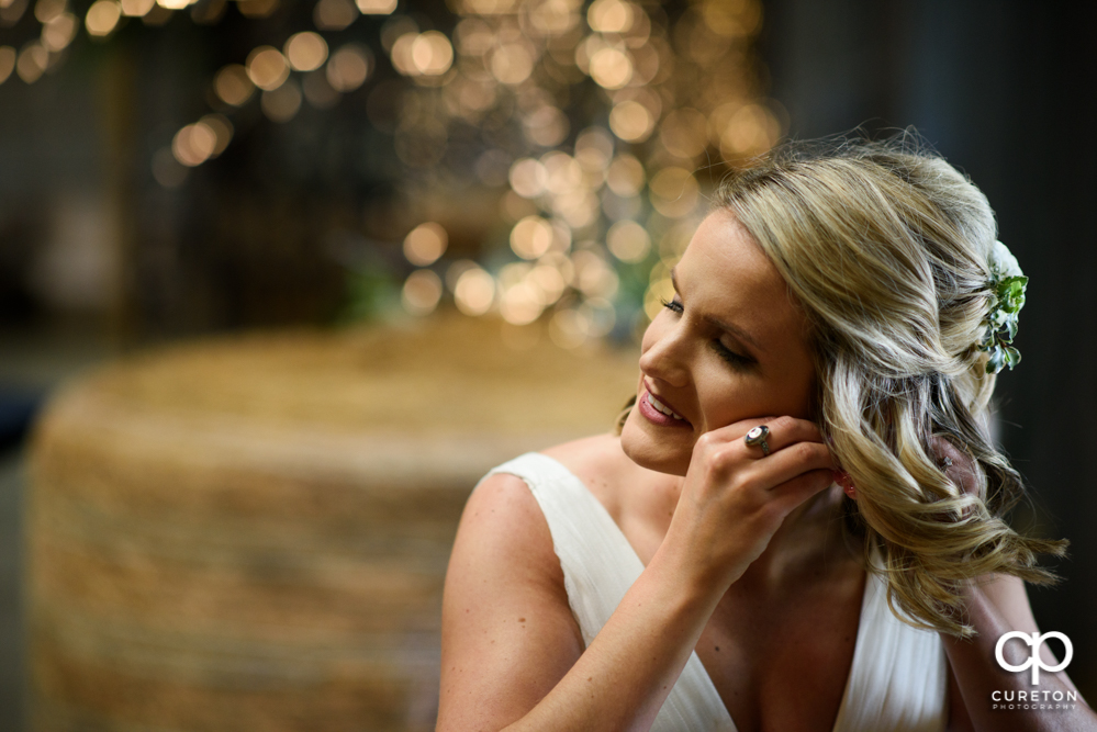
[[[81,20],[68,0],[37,0],[41,36],[18,50],[0,46],[0,83],[13,74],[34,83],[64,58],[81,25],[104,38],[123,18],[161,24],[192,4],[96,0]],[[236,5],[261,19],[279,0]],[[25,7],[8,2],[0,13],[10,24]],[[374,50],[360,43],[329,48],[316,31],[388,15],[378,53],[387,54],[399,80],[382,81],[369,95],[369,119],[393,134],[408,170],[430,176],[452,165],[447,150],[464,144],[454,125],[480,129],[481,147],[462,172],[499,190],[499,211],[511,222],[508,254],[518,260],[496,266],[494,275],[471,260],[446,262],[446,229],[421,224],[403,241],[414,268],[401,288],[404,308],[429,314],[448,288],[470,315],[497,312],[513,326],[544,317],[553,342],[566,348],[631,324],[630,307],[658,312],[669,268],[702,215],[696,170],[713,160],[738,165],[782,135],[779,109],[751,91],[758,87],[749,47],[762,23],[759,0],[696,0],[676,18],[628,0],[587,7],[581,0],[454,0],[450,7],[459,22],[447,35],[396,14],[396,0],[318,0],[315,30],[293,33],[280,48],[259,45],[243,63],[217,70],[211,99],[219,111],[183,125],[157,150],[154,177],[175,188],[190,168],[221,155],[235,132],[230,116],[257,89],[259,109],[276,123],[292,120],[304,100],[320,110],[340,103],[377,71]],[[221,12],[189,15],[215,23]],[[596,95],[572,93],[582,85]],[[592,99],[602,111],[593,117],[597,124],[584,126],[592,122]],[[623,282],[617,268],[635,273],[651,261],[641,303],[635,274]],[[427,267],[446,271],[445,286]]]

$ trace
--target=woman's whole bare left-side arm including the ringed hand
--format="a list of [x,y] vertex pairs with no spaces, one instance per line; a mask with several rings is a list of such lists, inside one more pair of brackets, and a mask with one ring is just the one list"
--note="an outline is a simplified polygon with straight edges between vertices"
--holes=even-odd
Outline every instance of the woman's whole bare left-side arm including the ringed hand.
[[516,477],[485,481],[446,577],[438,730],[649,729],[720,597],[831,482],[814,426],[782,420],[775,433],[807,442],[765,459],[742,446],[749,426],[702,438],[667,537],[585,652],[536,500]]

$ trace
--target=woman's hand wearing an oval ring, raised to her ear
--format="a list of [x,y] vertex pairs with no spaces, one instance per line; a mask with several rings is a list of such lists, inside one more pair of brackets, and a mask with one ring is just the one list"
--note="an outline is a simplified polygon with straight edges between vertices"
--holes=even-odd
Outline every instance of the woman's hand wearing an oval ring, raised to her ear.
[[[769,455],[743,441],[763,424]],[[694,447],[665,541],[686,553],[698,582],[726,589],[785,517],[833,482],[836,468],[819,429],[805,419],[749,419],[707,432]]]

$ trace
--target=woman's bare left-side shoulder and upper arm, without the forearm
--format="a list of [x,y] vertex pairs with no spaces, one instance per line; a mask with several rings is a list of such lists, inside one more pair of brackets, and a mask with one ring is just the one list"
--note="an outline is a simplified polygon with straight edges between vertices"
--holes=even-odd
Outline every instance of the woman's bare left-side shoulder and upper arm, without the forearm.
[[437,729],[520,719],[582,652],[536,498],[522,478],[492,475],[466,504],[446,573]]

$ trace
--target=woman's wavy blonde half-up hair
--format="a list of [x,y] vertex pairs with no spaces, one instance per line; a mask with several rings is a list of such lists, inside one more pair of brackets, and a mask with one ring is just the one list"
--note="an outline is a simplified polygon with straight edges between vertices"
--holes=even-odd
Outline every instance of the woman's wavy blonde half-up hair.
[[[815,417],[857,486],[853,536],[885,576],[893,612],[969,637],[965,581],[1056,581],[1036,555],[1062,556],[1066,542],[1004,519],[1023,485],[987,428],[995,376],[976,342],[994,297],[995,221],[983,193],[907,133],[786,145],[726,178],[716,205],[773,261],[811,325]],[[970,457],[969,491],[939,465],[941,439]],[[874,550],[880,568],[867,562]]]

